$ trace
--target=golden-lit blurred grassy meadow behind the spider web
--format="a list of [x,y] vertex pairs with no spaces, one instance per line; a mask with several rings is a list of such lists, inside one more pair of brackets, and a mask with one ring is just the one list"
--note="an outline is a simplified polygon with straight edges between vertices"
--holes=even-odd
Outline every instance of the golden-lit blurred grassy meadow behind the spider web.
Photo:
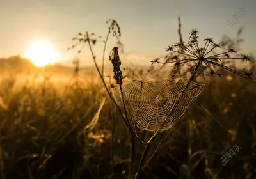
[[[221,43],[238,42],[226,36]],[[33,72],[22,77],[28,81],[19,80],[21,72],[2,75],[1,178],[135,176],[145,146],[131,143],[131,133],[97,71],[79,72],[76,67],[74,75],[71,71],[59,80]],[[141,76],[151,68],[150,62],[139,70],[121,67],[124,74]],[[249,67],[255,72],[253,58]],[[122,106],[112,77],[104,77],[106,85]],[[255,89],[256,84],[230,72],[214,77],[182,118],[150,144],[140,178],[256,178]],[[151,133],[138,135],[147,141]],[[241,149],[223,165],[221,157],[235,145]]]

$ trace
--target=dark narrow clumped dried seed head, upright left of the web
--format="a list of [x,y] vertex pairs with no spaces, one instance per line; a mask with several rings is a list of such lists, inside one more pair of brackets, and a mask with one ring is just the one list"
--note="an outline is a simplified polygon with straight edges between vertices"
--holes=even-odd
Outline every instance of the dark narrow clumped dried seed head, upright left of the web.
[[118,54],[118,47],[114,47],[109,55],[109,60],[113,65],[114,79],[116,80],[116,84],[123,84],[123,76],[122,71],[120,70],[121,61]]

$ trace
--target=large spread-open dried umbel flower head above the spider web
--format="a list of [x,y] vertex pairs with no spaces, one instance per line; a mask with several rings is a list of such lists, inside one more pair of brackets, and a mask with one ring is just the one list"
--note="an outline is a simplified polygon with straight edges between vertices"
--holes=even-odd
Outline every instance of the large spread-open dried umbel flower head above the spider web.
[[[233,48],[228,48],[219,54],[210,54],[212,51],[216,49],[220,49],[221,45],[218,43],[215,43],[212,38],[205,38],[204,47],[200,47],[198,43],[198,40],[199,40],[198,31],[196,29],[193,29],[189,34],[190,36],[188,40],[188,45],[186,45],[185,42],[178,42],[166,48],[166,51],[172,52],[178,55],[180,54],[181,56],[184,56],[184,58],[182,59],[173,58],[165,62],[160,62],[159,59],[156,59],[154,61],[151,61],[152,64],[163,63],[165,65],[166,63],[174,63],[174,66],[177,67],[177,66],[185,65],[187,63],[194,63],[194,66],[195,66],[195,63],[197,64],[199,63],[201,68],[200,71],[202,72],[202,70],[204,71],[207,69],[208,71],[207,75],[221,76],[221,74],[218,74],[215,71],[215,67],[220,67],[236,75],[239,75],[245,79],[248,79],[251,82],[256,83],[255,79],[252,79],[253,72],[247,72],[245,70],[242,70],[241,72],[239,72],[228,66],[223,65],[223,61],[228,59],[236,59],[236,60],[241,59],[242,61],[250,62],[251,59],[249,58],[249,56],[247,56],[246,54],[241,54],[240,57],[232,57],[232,54],[237,53],[237,51]],[[182,49],[182,51],[179,51],[179,49]]]

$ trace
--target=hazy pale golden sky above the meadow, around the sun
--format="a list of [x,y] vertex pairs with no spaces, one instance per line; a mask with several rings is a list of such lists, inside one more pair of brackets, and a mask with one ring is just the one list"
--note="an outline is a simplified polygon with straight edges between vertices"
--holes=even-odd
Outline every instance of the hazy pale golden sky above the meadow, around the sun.
[[[246,13],[231,27],[227,21],[239,8]],[[255,0],[0,0],[0,57],[22,56],[32,40],[44,38],[60,53],[59,63],[71,64],[77,56],[91,65],[88,47],[79,55],[78,49],[67,51],[67,47],[80,31],[105,37],[106,20],[115,19],[121,27],[125,59],[134,64],[150,64],[152,58],[166,54],[164,48],[179,40],[178,16],[184,40],[188,40],[193,28],[201,38],[220,42],[223,35],[236,37],[239,27],[243,27],[245,42],[241,51],[255,54],[255,8]],[[114,45],[115,39],[110,38],[106,52]],[[102,47],[102,43],[95,46],[97,60],[102,57]]]

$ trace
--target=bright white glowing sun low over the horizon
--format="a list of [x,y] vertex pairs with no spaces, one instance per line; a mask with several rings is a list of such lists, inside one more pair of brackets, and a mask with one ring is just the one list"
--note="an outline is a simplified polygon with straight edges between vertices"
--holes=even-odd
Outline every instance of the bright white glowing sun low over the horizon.
[[56,63],[59,55],[52,43],[47,40],[34,40],[28,45],[24,57],[36,66],[45,66]]

